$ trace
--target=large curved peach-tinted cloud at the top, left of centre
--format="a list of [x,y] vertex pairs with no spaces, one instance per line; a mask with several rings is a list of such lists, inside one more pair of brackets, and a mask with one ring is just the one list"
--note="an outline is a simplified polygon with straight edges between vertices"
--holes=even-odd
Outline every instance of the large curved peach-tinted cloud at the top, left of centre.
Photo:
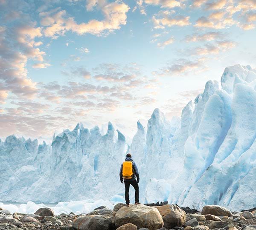
[[89,1],[87,10],[92,10],[93,7],[99,6],[105,19],[102,21],[93,19],[87,23],[76,23],[73,17],[67,17],[65,10],[41,12],[41,25],[47,26],[44,29],[44,35],[47,37],[57,38],[59,35],[64,35],[67,31],[76,32],[78,35],[90,33],[101,36],[120,29],[126,24],[126,13],[130,9],[128,5],[122,1],[108,3],[106,1]]

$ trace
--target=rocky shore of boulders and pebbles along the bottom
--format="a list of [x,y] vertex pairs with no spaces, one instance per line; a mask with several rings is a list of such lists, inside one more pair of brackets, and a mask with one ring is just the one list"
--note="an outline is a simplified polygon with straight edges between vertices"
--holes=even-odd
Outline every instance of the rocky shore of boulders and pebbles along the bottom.
[[177,205],[116,204],[87,214],[62,213],[40,208],[33,214],[10,213],[0,207],[0,230],[256,230],[256,208],[231,212],[218,205],[201,212]]

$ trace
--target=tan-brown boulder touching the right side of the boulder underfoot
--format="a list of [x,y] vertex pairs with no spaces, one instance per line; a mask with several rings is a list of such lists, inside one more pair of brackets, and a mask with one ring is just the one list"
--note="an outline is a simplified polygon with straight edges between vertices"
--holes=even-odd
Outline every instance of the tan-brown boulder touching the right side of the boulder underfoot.
[[186,213],[177,205],[166,204],[156,206],[163,217],[164,226],[170,229],[175,226],[182,226],[186,222]]

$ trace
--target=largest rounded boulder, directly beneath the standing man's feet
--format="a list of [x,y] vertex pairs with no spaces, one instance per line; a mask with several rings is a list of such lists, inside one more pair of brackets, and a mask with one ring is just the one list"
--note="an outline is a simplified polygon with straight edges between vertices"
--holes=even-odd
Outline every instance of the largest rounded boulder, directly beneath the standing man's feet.
[[143,204],[121,207],[114,218],[115,226],[134,224],[137,228],[145,227],[148,230],[155,230],[163,227],[163,218],[155,207]]

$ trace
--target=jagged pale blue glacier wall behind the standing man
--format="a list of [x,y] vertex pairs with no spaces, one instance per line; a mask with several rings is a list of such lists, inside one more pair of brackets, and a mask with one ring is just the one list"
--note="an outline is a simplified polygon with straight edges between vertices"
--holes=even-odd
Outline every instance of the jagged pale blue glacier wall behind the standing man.
[[51,144],[0,140],[0,201],[115,202],[124,196],[119,167],[127,152],[140,171],[143,202],[256,207],[256,69],[225,68],[221,85],[208,81],[180,118],[155,109],[147,126],[137,122],[131,144],[111,122],[104,135],[79,123]]

